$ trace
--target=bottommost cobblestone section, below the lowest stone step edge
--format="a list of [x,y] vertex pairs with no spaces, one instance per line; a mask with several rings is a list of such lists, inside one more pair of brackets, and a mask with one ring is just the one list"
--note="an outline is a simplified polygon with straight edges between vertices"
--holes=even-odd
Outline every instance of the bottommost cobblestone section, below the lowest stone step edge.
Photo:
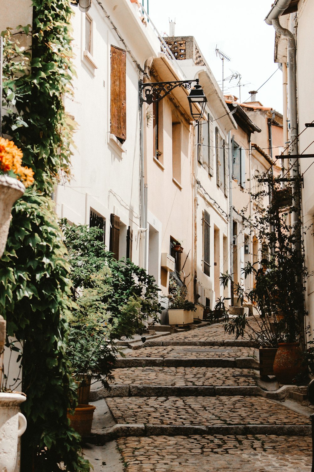
[[121,438],[126,472],[309,472],[311,438],[151,436]]

